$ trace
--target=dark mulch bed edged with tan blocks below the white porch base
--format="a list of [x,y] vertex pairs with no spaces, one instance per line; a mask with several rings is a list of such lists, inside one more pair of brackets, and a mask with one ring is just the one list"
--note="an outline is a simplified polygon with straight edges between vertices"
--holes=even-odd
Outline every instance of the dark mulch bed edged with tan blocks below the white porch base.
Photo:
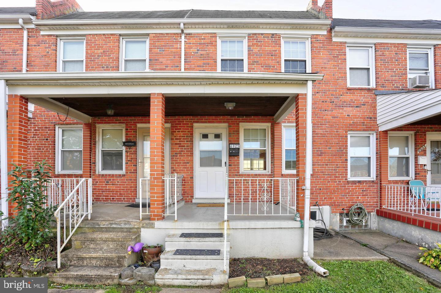
[[230,259],[229,278],[240,276],[263,278],[270,275],[294,273],[299,273],[303,278],[312,274],[312,270],[298,259]]

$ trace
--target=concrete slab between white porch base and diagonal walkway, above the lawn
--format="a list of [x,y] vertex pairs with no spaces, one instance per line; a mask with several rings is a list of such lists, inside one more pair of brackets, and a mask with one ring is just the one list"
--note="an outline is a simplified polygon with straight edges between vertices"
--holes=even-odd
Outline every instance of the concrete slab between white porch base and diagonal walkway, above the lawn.
[[314,259],[389,260],[354,240],[333,234],[333,238],[314,241]]

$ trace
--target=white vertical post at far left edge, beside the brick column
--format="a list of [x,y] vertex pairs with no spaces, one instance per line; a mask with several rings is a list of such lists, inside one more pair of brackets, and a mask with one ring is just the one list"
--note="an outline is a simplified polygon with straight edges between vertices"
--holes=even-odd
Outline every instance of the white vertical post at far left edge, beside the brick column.
[[[6,80],[0,79],[0,191],[1,211],[8,216],[7,207],[7,131],[6,131]],[[7,222],[2,221],[2,226]],[[2,227],[2,228],[3,228]]]

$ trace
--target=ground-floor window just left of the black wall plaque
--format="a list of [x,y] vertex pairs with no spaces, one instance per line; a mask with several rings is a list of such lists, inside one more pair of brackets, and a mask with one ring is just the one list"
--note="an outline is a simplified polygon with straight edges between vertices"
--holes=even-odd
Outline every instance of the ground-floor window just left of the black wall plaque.
[[123,125],[98,127],[99,173],[124,173],[124,128]]

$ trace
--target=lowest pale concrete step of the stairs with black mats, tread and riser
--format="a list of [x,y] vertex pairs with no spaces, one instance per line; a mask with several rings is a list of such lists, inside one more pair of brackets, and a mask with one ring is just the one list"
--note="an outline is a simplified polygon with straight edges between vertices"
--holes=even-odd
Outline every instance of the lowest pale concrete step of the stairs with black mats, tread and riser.
[[165,268],[155,275],[157,285],[212,286],[224,285],[228,272],[214,268]]

